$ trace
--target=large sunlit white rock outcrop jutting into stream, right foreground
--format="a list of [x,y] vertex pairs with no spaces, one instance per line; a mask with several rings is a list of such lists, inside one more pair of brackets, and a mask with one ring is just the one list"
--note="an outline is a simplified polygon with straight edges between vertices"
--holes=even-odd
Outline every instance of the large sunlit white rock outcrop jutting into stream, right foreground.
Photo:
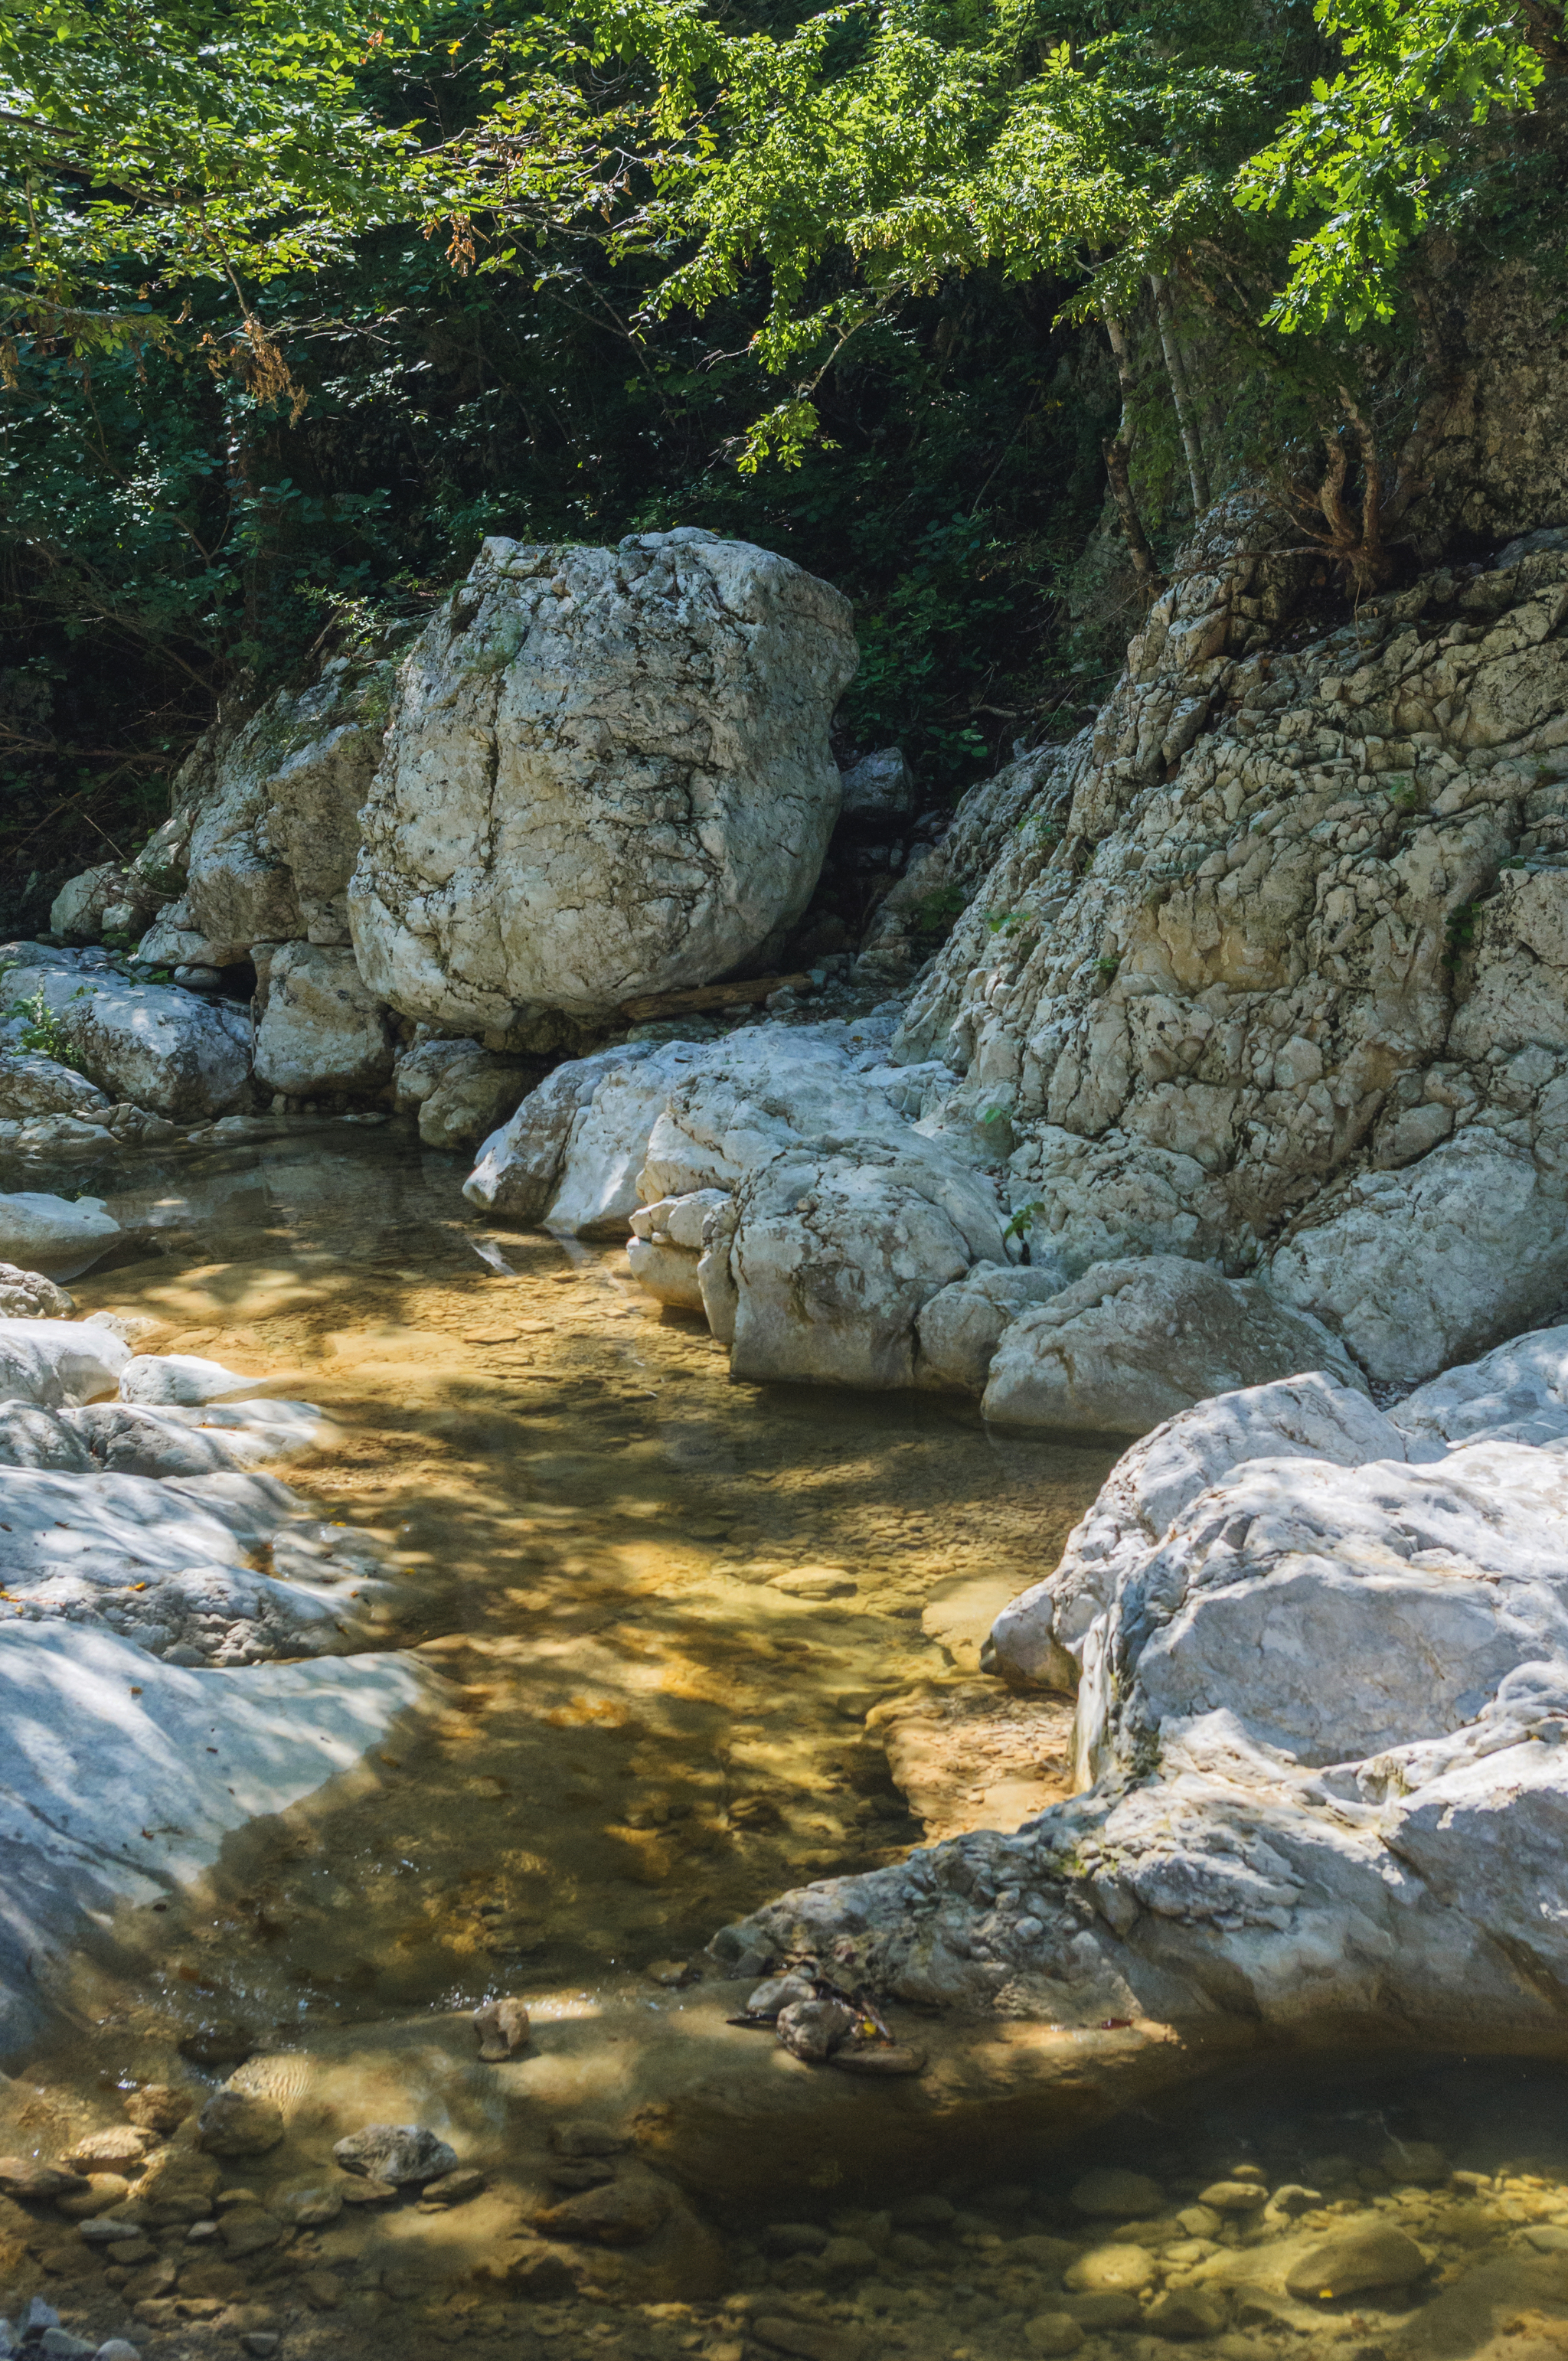
[[1554,1327],[1391,1414],[1318,1372],[1171,1419],[997,1631],[1015,1676],[1077,1672],[1082,1792],[718,1953],[1058,2023],[1561,2038],[1566,1386]]

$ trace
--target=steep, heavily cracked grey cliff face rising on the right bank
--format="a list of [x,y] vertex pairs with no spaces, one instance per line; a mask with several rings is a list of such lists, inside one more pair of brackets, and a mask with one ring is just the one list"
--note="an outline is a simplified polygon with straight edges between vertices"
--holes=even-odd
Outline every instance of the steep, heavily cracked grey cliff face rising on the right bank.
[[1568,534],[1322,635],[1259,538],[1214,519],[1096,727],[1013,774],[895,1055],[1006,1119],[1063,1282],[1219,1258],[1410,1384],[1568,1284]]

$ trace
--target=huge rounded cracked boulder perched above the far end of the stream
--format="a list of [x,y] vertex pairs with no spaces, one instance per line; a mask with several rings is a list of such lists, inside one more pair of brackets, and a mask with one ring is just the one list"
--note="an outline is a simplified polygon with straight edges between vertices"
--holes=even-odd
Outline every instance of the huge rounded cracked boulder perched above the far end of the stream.
[[744,541],[486,541],[401,668],[361,815],[371,992],[548,1046],[553,1013],[763,956],[817,883],[855,661],[848,602]]

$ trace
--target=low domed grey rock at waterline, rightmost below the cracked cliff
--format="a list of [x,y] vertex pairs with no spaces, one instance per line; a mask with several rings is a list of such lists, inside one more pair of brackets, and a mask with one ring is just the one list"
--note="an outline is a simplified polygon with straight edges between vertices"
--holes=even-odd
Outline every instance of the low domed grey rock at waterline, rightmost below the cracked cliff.
[[1344,1346],[1256,1280],[1150,1254],[1091,1263],[1004,1329],[985,1386],[997,1426],[1148,1433],[1211,1393],[1301,1369],[1365,1388]]

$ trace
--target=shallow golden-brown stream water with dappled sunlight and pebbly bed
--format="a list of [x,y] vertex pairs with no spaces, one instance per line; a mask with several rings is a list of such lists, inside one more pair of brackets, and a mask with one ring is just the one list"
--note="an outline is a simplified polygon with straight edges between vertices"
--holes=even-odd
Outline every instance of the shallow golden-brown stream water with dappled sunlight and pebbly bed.
[[[54,2158],[123,2125],[139,2085],[196,2108],[227,2075],[288,2130],[215,2167],[187,2118],[130,2174],[132,2198],[187,2174],[137,2250],[0,2200],[0,2311],[40,2295],[149,2361],[1436,2361],[1492,2340],[1530,2361],[1559,2319],[1568,2347],[1568,2092],[1544,2066],[1252,2066],[1044,2149],[1018,2115],[997,2139],[971,2120],[919,2165],[895,2101],[836,2092],[789,2163],[758,2153],[758,2078],[808,2068],[725,2023],[704,1943],[791,1884],[1063,1792],[1060,1705],[1001,1695],[978,1643],[1115,1445],[734,1386],[619,1249],[491,1230],[458,1183],[352,1126],[87,1183],[144,1247],[73,1282],[83,1310],[331,1412],[286,1473],[392,1570],[385,1643],[427,1669],[427,1707],[76,1964],[68,2038],[0,2087],[0,2149]],[[494,2068],[468,2012],[498,1993],[534,2042]],[[694,2094],[699,2167],[649,2172]],[[435,2127],[486,2186],[340,2203],[331,2144],[366,2120]],[[628,2146],[569,2153],[583,2123]],[[1145,2177],[1131,2210],[1084,2208],[1108,2163]],[[541,2238],[593,2172],[664,2208],[659,2231]],[[1263,2203],[1207,2205],[1216,2182]],[[326,2219],[300,2224],[319,2189]],[[1304,2241],[1379,2222],[1419,2243],[1419,2281],[1287,2293]]]

